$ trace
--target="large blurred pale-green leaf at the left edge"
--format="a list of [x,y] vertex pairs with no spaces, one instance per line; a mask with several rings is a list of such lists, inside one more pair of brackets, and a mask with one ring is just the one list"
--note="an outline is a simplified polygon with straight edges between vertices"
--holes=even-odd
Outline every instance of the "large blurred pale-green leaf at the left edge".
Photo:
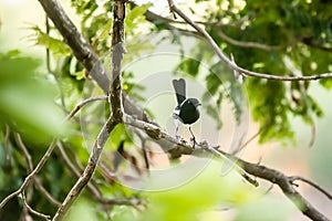
[[54,86],[42,78],[39,61],[15,53],[0,54],[0,113],[31,139],[63,135],[63,114],[53,103]]

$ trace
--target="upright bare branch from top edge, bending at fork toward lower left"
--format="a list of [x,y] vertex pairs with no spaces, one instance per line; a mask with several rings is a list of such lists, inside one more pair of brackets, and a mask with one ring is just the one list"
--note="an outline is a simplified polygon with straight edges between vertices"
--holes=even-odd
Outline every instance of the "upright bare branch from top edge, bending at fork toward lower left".
[[122,104],[122,60],[124,50],[124,19],[125,19],[125,1],[114,1],[113,3],[113,28],[112,28],[112,48],[111,48],[111,63],[112,63],[112,82],[110,84],[110,104],[112,107],[112,115],[104,124],[100,131],[96,141],[93,146],[92,152],[89,158],[87,166],[83,175],[79,178],[76,183],[72,187],[61,207],[54,214],[53,221],[61,220],[74,200],[80,196],[82,190],[91,180],[100,156],[103,151],[104,145],[117,124],[123,122],[123,104]]

